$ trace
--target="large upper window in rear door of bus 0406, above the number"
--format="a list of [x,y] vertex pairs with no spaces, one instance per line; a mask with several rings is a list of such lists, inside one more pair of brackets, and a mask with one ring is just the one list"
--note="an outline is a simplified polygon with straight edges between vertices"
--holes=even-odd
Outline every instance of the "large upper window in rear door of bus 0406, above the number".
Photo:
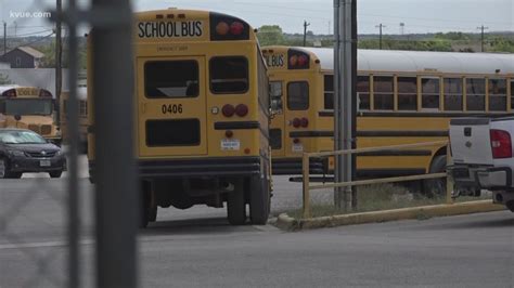
[[144,92],[149,99],[196,97],[196,61],[158,61],[144,64]]

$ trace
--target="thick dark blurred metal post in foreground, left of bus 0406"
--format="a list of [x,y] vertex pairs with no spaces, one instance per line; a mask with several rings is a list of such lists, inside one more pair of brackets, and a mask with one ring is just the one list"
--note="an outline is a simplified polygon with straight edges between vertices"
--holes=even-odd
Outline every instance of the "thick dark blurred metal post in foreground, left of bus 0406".
[[[129,0],[93,0],[119,23],[94,25],[92,37],[97,286],[138,286],[139,185],[134,165],[132,12]],[[108,21],[108,19],[101,19]],[[91,67],[90,67],[91,68]]]

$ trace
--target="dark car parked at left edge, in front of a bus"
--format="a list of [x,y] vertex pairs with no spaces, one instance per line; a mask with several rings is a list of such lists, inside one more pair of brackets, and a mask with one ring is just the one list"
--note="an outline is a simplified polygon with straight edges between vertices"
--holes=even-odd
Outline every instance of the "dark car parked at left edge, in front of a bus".
[[0,178],[18,179],[27,172],[60,178],[66,169],[62,149],[26,129],[0,129]]

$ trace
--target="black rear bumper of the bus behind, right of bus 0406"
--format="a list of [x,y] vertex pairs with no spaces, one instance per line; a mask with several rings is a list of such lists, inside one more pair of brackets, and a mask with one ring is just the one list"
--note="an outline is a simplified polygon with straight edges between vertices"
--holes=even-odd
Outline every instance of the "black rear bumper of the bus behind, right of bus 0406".
[[[301,158],[272,158],[271,162],[273,175],[295,175],[303,173]],[[309,171],[310,174],[326,174],[326,159],[310,158]]]

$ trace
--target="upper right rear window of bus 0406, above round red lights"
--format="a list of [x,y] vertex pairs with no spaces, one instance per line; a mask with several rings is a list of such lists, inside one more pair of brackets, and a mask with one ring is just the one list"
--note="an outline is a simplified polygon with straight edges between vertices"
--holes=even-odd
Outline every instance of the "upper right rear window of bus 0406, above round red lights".
[[248,91],[248,61],[245,57],[213,57],[209,68],[213,93],[242,94]]

